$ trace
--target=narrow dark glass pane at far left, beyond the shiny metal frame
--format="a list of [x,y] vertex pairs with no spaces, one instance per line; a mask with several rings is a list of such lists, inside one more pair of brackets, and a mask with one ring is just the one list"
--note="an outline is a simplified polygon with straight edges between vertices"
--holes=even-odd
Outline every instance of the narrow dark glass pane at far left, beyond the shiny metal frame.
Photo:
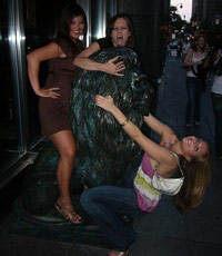
[[16,79],[13,77],[13,59],[10,48],[9,10],[11,1],[0,1],[0,167],[13,158],[19,149],[18,108],[16,99]]

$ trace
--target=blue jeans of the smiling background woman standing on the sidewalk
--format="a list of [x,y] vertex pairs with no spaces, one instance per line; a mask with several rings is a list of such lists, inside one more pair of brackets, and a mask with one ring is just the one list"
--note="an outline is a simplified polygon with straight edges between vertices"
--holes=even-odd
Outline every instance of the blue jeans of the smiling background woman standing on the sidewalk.
[[195,77],[186,77],[188,104],[185,112],[185,124],[199,121],[201,118],[201,96],[202,85]]

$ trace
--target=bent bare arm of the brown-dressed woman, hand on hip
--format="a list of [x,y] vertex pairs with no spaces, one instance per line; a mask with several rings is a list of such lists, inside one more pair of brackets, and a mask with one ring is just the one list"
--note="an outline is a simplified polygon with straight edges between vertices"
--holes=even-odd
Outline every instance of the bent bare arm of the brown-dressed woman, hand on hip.
[[40,87],[40,82],[39,82],[39,68],[40,68],[41,61],[57,58],[58,49],[61,55],[62,51],[60,48],[58,48],[58,45],[54,42],[51,42],[44,47],[41,47],[30,52],[27,56],[29,80],[31,82],[34,93],[40,97],[58,98],[60,96],[56,91],[56,90],[59,90],[59,88],[54,87],[50,89],[44,89]]

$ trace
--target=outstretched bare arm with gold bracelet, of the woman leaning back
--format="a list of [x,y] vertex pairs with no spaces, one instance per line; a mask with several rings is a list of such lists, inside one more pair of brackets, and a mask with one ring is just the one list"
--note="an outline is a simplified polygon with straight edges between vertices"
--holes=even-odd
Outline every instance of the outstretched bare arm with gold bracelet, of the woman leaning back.
[[[174,165],[174,158],[172,154],[164,147],[155,144],[148,137],[145,137],[141,130],[127,117],[123,112],[113,104],[113,99],[110,96],[95,97],[95,104],[107,111],[110,111],[117,121],[122,125],[124,131],[141,147],[143,150],[153,159],[155,159],[160,165],[164,166],[165,173],[171,169],[171,165]],[[173,164],[172,164],[173,163]],[[161,168],[162,169],[162,168]]]

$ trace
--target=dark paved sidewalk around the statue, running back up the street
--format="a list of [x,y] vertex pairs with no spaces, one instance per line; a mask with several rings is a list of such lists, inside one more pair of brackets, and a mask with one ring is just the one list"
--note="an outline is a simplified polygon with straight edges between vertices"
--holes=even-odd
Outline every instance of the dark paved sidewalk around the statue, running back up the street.
[[[194,134],[213,147],[213,112],[210,88],[203,96],[200,129],[185,129],[185,71],[181,60],[167,59],[163,83],[159,88],[157,117],[172,127],[181,138]],[[152,135],[153,139],[158,139]],[[131,256],[221,256],[222,255],[222,161],[212,154],[212,181],[202,205],[189,215],[181,215],[171,197],[163,196],[153,214],[134,221],[138,233]],[[108,249],[44,240],[9,233],[10,217],[1,225],[1,256],[107,256]]]

